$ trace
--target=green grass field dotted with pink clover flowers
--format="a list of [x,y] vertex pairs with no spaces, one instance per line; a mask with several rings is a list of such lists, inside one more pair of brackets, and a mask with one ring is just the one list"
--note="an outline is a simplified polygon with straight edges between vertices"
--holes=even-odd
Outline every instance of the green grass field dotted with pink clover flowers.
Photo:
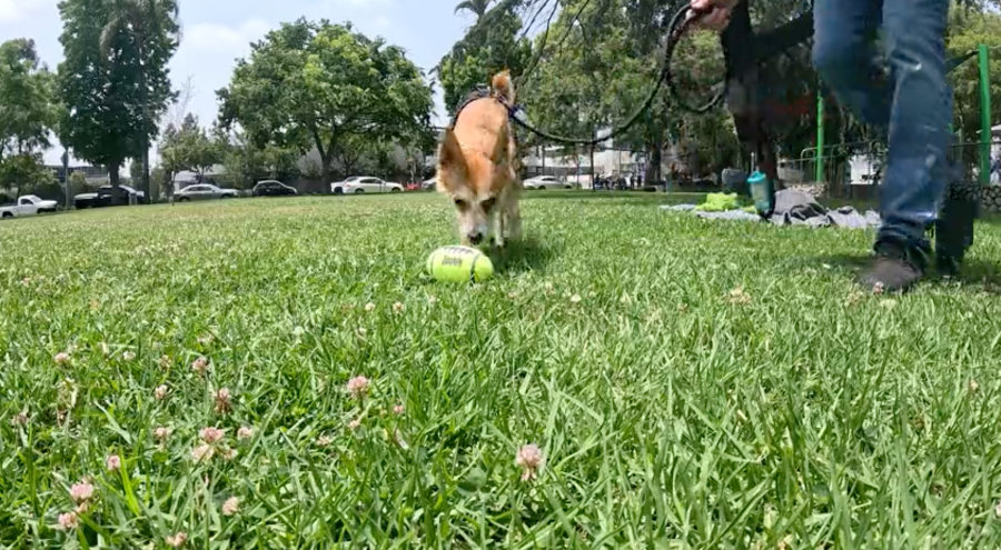
[[1001,228],[869,296],[869,233],[528,197],[478,286],[433,194],[0,223],[0,548],[1001,548]]

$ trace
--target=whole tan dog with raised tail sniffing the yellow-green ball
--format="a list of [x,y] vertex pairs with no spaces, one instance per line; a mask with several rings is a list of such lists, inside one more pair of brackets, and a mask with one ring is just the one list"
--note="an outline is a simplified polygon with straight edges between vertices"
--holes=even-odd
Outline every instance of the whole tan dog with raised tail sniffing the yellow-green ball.
[[[522,182],[507,104],[514,104],[511,74],[490,82],[490,96],[467,103],[445,130],[438,149],[438,191],[455,203],[463,244],[493,237],[498,247],[522,232]],[[495,228],[496,226],[496,228]]]

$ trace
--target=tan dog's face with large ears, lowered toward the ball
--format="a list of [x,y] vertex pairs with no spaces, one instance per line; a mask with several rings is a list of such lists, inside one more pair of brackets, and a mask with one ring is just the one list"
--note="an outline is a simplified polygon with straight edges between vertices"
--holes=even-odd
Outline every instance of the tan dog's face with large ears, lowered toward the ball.
[[489,240],[500,193],[512,182],[506,129],[497,136],[494,150],[464,149],[449,128],[438,151],[438,190],[455,204],[459,236],[464,244]]

